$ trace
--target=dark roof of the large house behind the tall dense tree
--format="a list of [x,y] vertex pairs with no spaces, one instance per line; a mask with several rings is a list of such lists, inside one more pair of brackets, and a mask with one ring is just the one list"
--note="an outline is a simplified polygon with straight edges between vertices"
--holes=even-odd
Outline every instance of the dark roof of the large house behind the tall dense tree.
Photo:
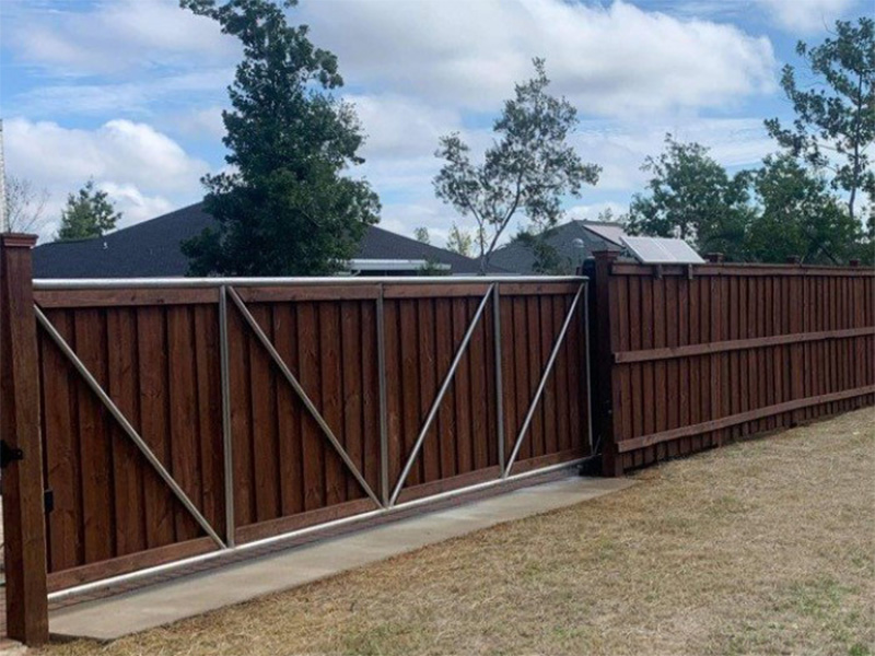
[[[174,278],[188,270],[182,242],[215,225],[195,203],[150,221],[93,239],[55,242],[34,248],[35,278]],[[479,262],[456,253],[371,226],[355,259],[428,260],[447,265],[452,273],[472,274]],[[491,267],[493,272],[501,272]]]

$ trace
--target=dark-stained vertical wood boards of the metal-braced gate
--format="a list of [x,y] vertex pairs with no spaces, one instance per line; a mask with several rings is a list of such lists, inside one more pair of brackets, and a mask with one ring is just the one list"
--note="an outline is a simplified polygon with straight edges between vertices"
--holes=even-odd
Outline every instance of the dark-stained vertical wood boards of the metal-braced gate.
[[[47,515],[49,589],[374,511],[389,503],[395,485],[404,503],[591,454],[579,279],[229,281],[226,288],[37,284],[35,303],[45,317],[37,332],[44,477],[54,495]],[[223,294],[226,302],[220,301]],[[505,471],[579,294],[518,457]],[[399,483],[481,305],[434,421]],[[222,544],[162,480],[59,340]],[[376,499],[352,475],[283,367]]]

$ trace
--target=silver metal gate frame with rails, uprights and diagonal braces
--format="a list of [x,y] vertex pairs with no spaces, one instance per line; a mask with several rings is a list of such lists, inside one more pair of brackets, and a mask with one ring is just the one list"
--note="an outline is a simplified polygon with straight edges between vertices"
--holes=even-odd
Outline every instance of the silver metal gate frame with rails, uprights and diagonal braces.
[[[500,300],[501,300],[501,284],[502,283],[545,283],[545,282],[571,282],[578,283],[578,290],[574,295],[574,298],[569,307],[564,320],[562,323],[562,327],[559,333],[556,336],[553,345],[550,352],[550,356],[541,372],[538,386],[536,388],[534,397],[530,399],[528,409],[526,411],[525,419],[523,421],[523,425],[520,427],[517,435],[514,438],[513,448],[506,458],[505,462],[505,447],[504,447],[504,422],[503,422],[503,385],[502,385],[502,359],[501,359],[501,323],[500,323]],[[413,444],[413,448],[411,449],[410,454],[408,454],[407,459],[405,461],[404,469],[401,470],[398,479],[395,481],[394,488],[392,488],[392,492],[389,493],[389,481],[388,481],[388,444],[387,444],[387,401],[386,401],[386,363],[385,363],[385,323],[384,323],[384,289],[385,285],[402,285],[402,284],[445,284],[445,279],[440,278],[407,278],[407,277],[397,277],[397,278],[353,278],[353,279],[338,279],[338,278],[208,278],[208,279],[114,279],[114,280],[35,280],[34,281],[34,289],[38,291],[58,291],[58,290],[82,290],[82,289],[91,289],[91,290],[108,290],[108,289],[144,289],[144,288],[217,288],[219,292],[219,336],[220,336],[220,364],[221,364],[221,396],[222,396],[222,438],[223,438],[223,464],[224,464],[224,493],[225,493],[225,524],[226,524],[226,535],[225,538],[222,539],[213,527],[209,524],[209,522],[203,517],[197,506],[191,502],[190,499],[185,494],[182,490],[179,484],[174,480],[173,476],[164,468],[161,461],[155,457],[152,450],[149,448],[148,444],[144,442],[142,436],[133,429],[130,424],[128,419],[125,414],[119,410],[119,408],[115,405],[106,390],[100,385],[96,378],[92,375],[85,364],[78,358],[73,349],[67,343],[63,337],[58,332],[51,321],[46,317],[43,311],[38,307],[37,304],[34,306],[36,319],[39,326],[46,330],[52,341],[59,347],[61,352],[70,361],[70,363],[75,367],[75,370],[80,373],[84,382],[91,388],[91,390],[97,396],[100,401],[104,405],[104,407],[109,411],[113,418],[118,422],[120,427],[122,429],[124,433],[127,437],[133,442],[137,448],[147,458],[149,464],[153,467],[153,469],[159,473],[162,478],[164,483],[171,489],[174,495],[184,504],[186,509],[191,514],[198,525],[205,530],[205,532],[212,538],[212,540],[217,544],[217,550],[195,555],[168,563],[164,563],[161,565],[155,565],[142,570],[137,570],[135,572],[130,572],[127,574],[120,574],[107,578],[103,578],[100,581],[94,581],[91,583],[80,584],[73,587],[65,588],[61,590],[57,590],[50,593],[48,595],[48,599],[50,601],[57,601],[60,599],[69,598],[72,596],[78,596],[88,591],[92,591],[95,589],[100,589],[103,587],[107,587],[110,585],[115,585],[118,583],[136,581],[139,578],[145,578],[152,576],[154,574],[161,572],[167,572],[172,570],[176,570],[179,567],[184,567],[187,565],[191,565],[195,563],[200,563],[209,560],[213,560],[217,558],[221,558],[229,554],[235,554],[238,552],[245,552],[258,548],[264,548],[271,544],[278,544],[284,541],[290,541],[292,539],[299,538],[301,536],[305,536],[308,534],[317,532],[327,528],[332,527],[340,527],[343,525],[362,522],[371,517],[383,516],[387,514],[394,514],[401,511],[406,511],[413,507],[419,507],[422,505],[427,505],[430,503],[434,503],[444,499],[457,496],[459,494],[465,494],[468,492],[474,492],[478,490],[483,490],[497,485],[502,485],[508,482],[518,481],[521,479],[526,479],[533,476],[548,473],[550,471],[565,469],[569,467],[574,466],[586,459],[586,457],[576,458],[572,460],[568,460],[564,462],[560,462],[557,465],[550,465],[546,467],[535,468],[522,473],[512,473],[514,464],[520,454],[520,449],[525,441],[528,429],[532,424],[532,420],[534,414],[538,408],[538,403],[540,402],[544,390],[546,388],[548,378],[552,372],[553,365],[558,358],[559,351],[564,344],[564,340],[568,336],[569,328],[574,319],[574,315],[578,311],[578,307],[581,304],[581,298],[583,298],[583,321],[584,321],[584,348],[583,348],[583,356],[586,363],[586,407],[587,407],[587,440],[588,446],[592,449],[593,445],[593,431],[592,431],[592,412],[590,408],[592,407],[591,403],[591,383],[590,383],[590,327],[588,327],[588,279],[585,277],[478,277],[478,278],[458,278],[454,279],[453,283],[469,283],[469,284],[489,284],[486,294],[480,298],[480,303],[477,307],[477,311],[474,314],[474,317],[470,319],[465,335],[463,337],[462,342],[459,343],[458,348],[456,349],[456,353],[453,356],[452,364],[450,370],[447,371],[444,379],[439,388],[438,394],[435,395],[434,400],[432,401],[431,408],[429,413],[419,430],[417,435],[417,440]],[[327,423],[325,418],[315,407],[306,390],[301,385],[298,377],[289,368],[287,363],[283,361],[282,356],[277,351],[273,343],[267,337],[265,331],[258,325],[257,319],[252,315],[248,307],[241,298],[240,294],[237,293],[235,288],[242,286],[260,286],[260,285],[270,285],[270,286],[318,286],[318,285],[338,285],[338,284],[354,284],[354,285],[362,285],[362,284],[372,284],[378,288],[378,295],[376,297],[376,330],[377,330],[377,367],[378,367],[378,380],[380,380],[380,437],[381,437],[381,494],[377,495],[374,493],[373,489],[370,487],[368,481],[364,479],[362,473],[358,470],[354,462],[351,460],[349,454],[342,447],[340,442],[337,440],[331,426]],[[283,377],[285,378],[287,383],[293,388],[298,397],[301,399],[302,403],[305,406],[306,410],[310,412],[312,418],[316,421],[319,425],[324,437],[330,443],[331,447],[338,454],[338,456],[343,461],[347,469],[352,473],[355,478],[359,485],[365,492],[365,494],[374,502],[375,508],[373,511],[366,511],[364,513],[359,513],[357,515],[351,515],[348,517],[342,517],[340,519],[334,519],[330,522],[325,522],[322,524],[315,524],[312,526],[307,526],[305,528],[296,529],[289,532],[279,534],[276,536],[270,536],[268,538],[262,538],[259,540],[254,540],[250,542],[245,542],[243,544],[237,544],[236,540],[234,539],[235,534],[235,518],[234,518],[234,488],[233,488],[233,445],[232,445],[232,432],[231,432],[231,389],[230,389],[230,376],[229,376],[229,327],[228,327],[228,319],[229,319],[229,303],[228,298],[231,298],[232,304],[237,308],[240,315],[246,323],[246,325],[250,328],[255,337],[268,352],[270,360],[273,364],[280,370]],[[490,300],[492,300],[493,305],[493,329],[494,329],[494,353],[495,353],[495,371],[493,372],[494,379],[495,379],[495,395],[497,395],[497,432],[498,432],[498,453],[499,453],[499,464],[500,464],[500,475],[497,479],[488,480],[485,482],[469,484],[460,488],[456,488],[450,491],[440,492],[427,496],[422,496],[419,499],[415,499],[411,501],[404,501],[398,502],[398,496],[405,489],[404,485],[407,482],[407,478],[410,473],[410,470],[416,462],[417,458],[419,457],[422,445],[431,427],[431,424],[438,414],[440,409],[441,402],[443,401],[446,391],[450,389],[453,379],[455,377],[456,371],[458,370],[458,365],[462,362],[463,356],[468,348],[470,339],[477,329],[480,319],[482,318],[487,306],[489,305]],[[588,457],[592,457],[593,454],[591,453]]]

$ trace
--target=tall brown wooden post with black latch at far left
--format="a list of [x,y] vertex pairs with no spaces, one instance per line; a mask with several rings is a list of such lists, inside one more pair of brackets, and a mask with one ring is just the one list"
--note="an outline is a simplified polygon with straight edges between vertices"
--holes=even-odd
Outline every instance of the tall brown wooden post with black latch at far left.
[[[48,640],[46,526],[31,249],[36,237],[0,235],[0,437],[7,634]],[[4,458],[7,459],[7,458]]]

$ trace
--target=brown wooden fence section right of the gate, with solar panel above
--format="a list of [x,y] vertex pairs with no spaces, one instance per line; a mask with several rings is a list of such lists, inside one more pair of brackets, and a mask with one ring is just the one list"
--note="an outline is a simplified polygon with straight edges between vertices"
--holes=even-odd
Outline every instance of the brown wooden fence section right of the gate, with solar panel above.
[[615,257],[592,271],[606,472],[875,402],[875,270]]

